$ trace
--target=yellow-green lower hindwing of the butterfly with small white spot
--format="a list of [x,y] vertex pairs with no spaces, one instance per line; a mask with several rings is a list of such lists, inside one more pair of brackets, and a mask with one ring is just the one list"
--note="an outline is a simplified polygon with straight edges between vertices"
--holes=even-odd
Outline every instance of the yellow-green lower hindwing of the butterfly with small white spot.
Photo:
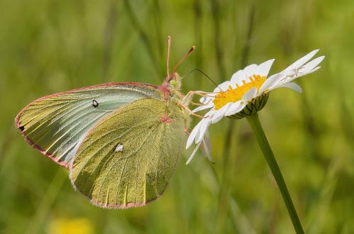
[[106,116],[79,145],[70,180],[92,204],[143,206],[167,186],[181,153],[182,111],[140,99]]

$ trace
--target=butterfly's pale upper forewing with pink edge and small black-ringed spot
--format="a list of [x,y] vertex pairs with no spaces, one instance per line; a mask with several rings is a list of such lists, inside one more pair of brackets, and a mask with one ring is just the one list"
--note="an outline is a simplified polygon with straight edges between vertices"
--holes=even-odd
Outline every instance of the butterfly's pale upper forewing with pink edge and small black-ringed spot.
[[69,167],[79,141],[99,119],[131,101],[161,99],[161,95],[149,84],[100,84],[33,101],[18,113],[15,122],[31,146]]

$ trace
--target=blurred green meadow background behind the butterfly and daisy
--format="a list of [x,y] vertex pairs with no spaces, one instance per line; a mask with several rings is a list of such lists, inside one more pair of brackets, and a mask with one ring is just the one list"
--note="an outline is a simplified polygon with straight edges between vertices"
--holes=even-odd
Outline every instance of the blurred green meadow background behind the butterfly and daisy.
[[[320,48],[304,93],[272,92],[260,120],[306,233],[354,233],[354,1],[0,1],[0,233],[294,233],[248,123],[211,126],[213,157],[184,165],[143,208],[104,210],[13,124],[34,99],[103,82],[160,84],[179,74],[216,82],[275,58],[271,73]],[[197,72],[182,90],[211,91]],[[197,122],[194,120],[192,126]]]

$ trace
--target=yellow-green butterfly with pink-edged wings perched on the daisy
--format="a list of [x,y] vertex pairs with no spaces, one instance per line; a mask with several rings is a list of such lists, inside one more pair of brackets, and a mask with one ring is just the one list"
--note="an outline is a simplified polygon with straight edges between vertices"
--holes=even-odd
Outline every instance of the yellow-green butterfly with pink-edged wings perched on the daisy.
[[[190,110],[177,66],[160,86],[108,83],[44,96],[15,118],[26,142],[69,169],[95,206],[144,206],[165,190],[182,151]],[[187,110],[187,111],[186,111]]]

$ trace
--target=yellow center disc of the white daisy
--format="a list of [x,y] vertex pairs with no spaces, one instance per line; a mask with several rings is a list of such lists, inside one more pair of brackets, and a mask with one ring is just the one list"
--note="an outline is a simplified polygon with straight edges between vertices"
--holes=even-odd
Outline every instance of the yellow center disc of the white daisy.
[[231,85],[228,87],[226,91],[219,91],[219,94],[216,94],[214,102],[214,108],[219,110],[219,108],[225,106],[229,102],[236,102],[242,99],[242,96],[253,87],[260,89],[262,84],[265,82],[267,77],[261,77],[259,74],[253,74],[253,77],[250,77],[250,82],[246,83],[243,80],[243,84],[239,86],[236,84],[236,88],[233,89]]

